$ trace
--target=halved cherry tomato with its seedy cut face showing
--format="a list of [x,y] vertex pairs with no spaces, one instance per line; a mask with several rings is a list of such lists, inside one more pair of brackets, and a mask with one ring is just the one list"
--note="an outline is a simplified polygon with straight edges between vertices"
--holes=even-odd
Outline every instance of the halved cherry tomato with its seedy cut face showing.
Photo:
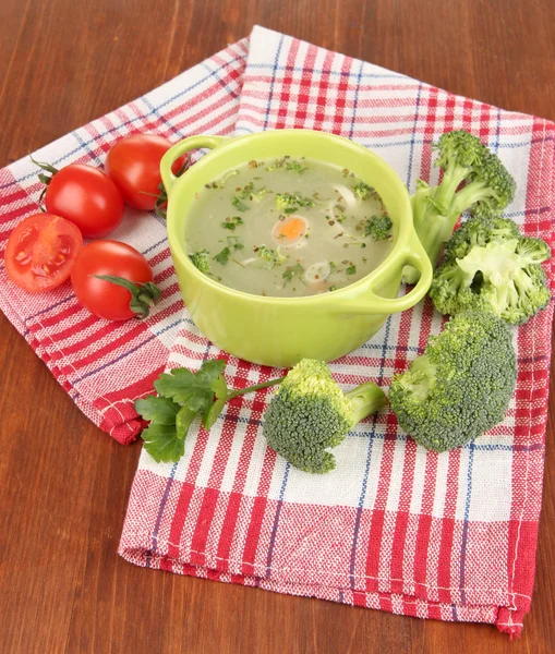
[[83,247],[83,237],[52,214],[35,214],[10,234],[4,263],[8,277],[26,291],[49,291],[63,283]]

